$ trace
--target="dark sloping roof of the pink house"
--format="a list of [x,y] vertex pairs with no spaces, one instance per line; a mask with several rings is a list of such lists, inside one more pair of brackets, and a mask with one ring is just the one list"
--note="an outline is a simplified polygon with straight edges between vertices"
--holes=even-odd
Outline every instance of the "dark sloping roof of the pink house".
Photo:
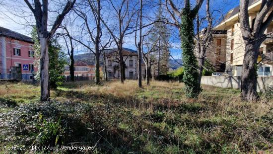
[[10,37],[16,40],[33,43],[32,38],[15,31],[0,27],[0,36]]

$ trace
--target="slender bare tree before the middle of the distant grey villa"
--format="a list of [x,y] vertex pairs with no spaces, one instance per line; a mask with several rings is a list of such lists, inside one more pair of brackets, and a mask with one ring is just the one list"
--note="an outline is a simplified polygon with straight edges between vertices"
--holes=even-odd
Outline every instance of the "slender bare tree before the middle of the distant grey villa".
[[101,18],[102,23],[105,25],[109,33],[112,35],[116,46],[118,47],[118,53],[119,53],[119,69],[120,69],[120,80],[122,83],[124,83],[125,79],[125,64],[123,60],[123,43],[124,43],[124,37],[128,34],[127,31],[129,31],[131,27],[131,23],[134,20],[134,17],[136,15],[137,9],[136,4],[133,4],[130,2],[130,0],[122,0],[121,3],[117,4],[116,2],[113,2],[114,0],[109,0],[110,5],[113,8],[113,11],[115,13],[114,18],[118,21],[118,30],[117,34],[114,32],[114,29],[110,28],[109,23],[106,23],[103,18]]

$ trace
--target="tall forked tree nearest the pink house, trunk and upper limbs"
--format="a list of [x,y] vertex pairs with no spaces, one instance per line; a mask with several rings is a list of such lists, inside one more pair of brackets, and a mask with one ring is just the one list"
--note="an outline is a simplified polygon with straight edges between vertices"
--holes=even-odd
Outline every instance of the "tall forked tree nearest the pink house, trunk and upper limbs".
[[[51,30],[48,31],[48,0],[32,0],[34,3],[30,3],[28,0],[24,0],[29,9],[34,14],[36,20],[36,28],[41,45],[41,59],[40,59],[40,71],[41,71],[41,101],[46,101],[50,97],[49,88],[49,55],[48,45],[51,37],[61,25],[65,15],[71,10],[76,0],[68,0],[62,12],[57,16]],[[42,1],[42,3],[41,3]],[[33,7],[34,6],[34,7]]]

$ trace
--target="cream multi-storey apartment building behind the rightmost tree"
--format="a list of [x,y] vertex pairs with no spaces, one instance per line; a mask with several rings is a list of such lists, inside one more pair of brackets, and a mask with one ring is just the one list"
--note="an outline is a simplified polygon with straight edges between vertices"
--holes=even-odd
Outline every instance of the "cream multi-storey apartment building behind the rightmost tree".
[[[250,0],[249,2],[249,21],[250,25],[255,21],[257,12],[261,8],[262,0]],[[241,35],[240,23],[238,18],[239,6],[230,10],[225,19],[218,24],[214,30],[226,30],[226,68],[225,72],[231,76],[241,76],[244,59],[244,42]],[[258,76],[273,76],[273,22],[265,31],[271,34],[265,40],[259,50]]]

